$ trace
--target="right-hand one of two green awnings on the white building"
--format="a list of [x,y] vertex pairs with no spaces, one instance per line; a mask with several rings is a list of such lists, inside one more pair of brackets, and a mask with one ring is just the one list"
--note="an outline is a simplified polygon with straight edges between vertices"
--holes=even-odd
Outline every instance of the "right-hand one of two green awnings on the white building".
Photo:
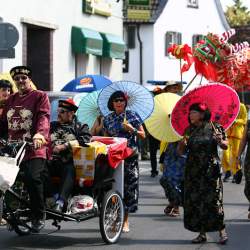
[[125,58],[125,43],[120,36],[101,33],[103,38],[103,56],[116,59]]

